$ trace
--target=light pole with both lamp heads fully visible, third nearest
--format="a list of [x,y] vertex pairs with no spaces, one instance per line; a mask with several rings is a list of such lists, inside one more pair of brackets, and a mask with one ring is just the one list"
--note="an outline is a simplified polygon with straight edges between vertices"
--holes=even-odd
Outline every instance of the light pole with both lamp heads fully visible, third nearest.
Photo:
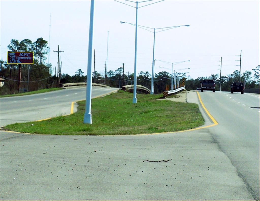
[[[133,26],[135,26],[135,24],[129,23],[129,22],[120,22],[120,23],[127,23],[127,24],[131,24]],[[151,27],[145,27],[145,26],[141,26],[141,25],[137,25],[139,28],[147,30],[148,32],[153,32],[153,62],[152,62],[152,83],[151,83],[151,94],[153,94],[153,86],[154,86],[154,45],[155,45],[155,33],[158,32],[162,32],[162,31],[166,31],[168,29],[173,29],[173,28],[177,28],[177,27],[189,27],[190,25],[179,25],[179,26],[172,26],[172,27],[163,27],[163,28],[151,28]],[[150,29],[150,30],[149,30]],[[157,32],[155,32],[155,30],[158,30]],[[153,30],[153,31],[151,31]],[[156,60],[156,59],[155,59]]]

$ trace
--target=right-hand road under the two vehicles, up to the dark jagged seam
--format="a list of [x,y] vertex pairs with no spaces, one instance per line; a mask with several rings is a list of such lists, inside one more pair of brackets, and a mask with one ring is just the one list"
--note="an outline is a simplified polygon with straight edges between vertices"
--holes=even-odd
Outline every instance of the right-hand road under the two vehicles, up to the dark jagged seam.
[[219,125],[209,130],[239,177],[259,200],[259,94],[199,92]]

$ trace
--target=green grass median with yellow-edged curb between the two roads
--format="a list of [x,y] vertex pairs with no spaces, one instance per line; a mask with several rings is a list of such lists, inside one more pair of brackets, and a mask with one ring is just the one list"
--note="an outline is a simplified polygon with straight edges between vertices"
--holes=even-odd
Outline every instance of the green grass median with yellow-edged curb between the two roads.
[[137,103],[133,104],[132,93],[119,91],[92,99],[91,125],[83,123],[85,101],[79,101],[74,114],[10,124],[4,130],[52,135],[133,135],[187,130],[204,124],[197,104],[156,100],[160,97],[161,94],[137,94]]

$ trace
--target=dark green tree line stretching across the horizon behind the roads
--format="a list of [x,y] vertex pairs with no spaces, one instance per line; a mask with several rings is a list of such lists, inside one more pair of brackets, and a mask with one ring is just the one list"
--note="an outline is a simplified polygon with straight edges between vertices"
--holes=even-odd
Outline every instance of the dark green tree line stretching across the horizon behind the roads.
[[[10,51],[18,52],[34,52],[34,64],[23,64],[21,67],[21,88],[28,89],[28,91],[35,91],[39,89],[47,89],[58,86],[58,78],[53,74],[53,68],[51,64],[46,64],[47,54],[49,53],[48,42],[42,37],[38,38],[35,42],[29,39],[18,41],[12,39],[7,46]],[[245,84],[245,88],[259,88],[259,65],[252,68],[254,74],[251,71],[245,71],[241,73],[241,82]],[[187,77],[185,73],[177,73],[178,79]],[[253,78],[252,78],[253,76]],[[0,87],[0,95],[18,93],[18,65],[7,64],[6,61],[0,60],[0,77],[6,79],[3,87]],[[29,78],[29,79],[28,79]],[[200,88],[200,82],[203,79],[213,79],[216,83],[216,90],[220,90],[220,78],[219,74],[211,74],[209,77],[199,77],[197,79],[185,80],[186,90],[195,90]],[[84,76],[84,72],[78,69],[75,75],[62,74],[60,83],[76,83],[86,82],[87,76]],[[221,77],[221,91],[229,91],[230,85],[233,81],[239,81],[239,71],[236,70],[232,74]],[[120,67],[115,71],[108,71],[105,76],[101,75],[97,71],[92,73],[92,82],[105,84],[111,87],[122,87],[124,85],[130,85],[134,82],[133,73],[123,73],[123,68]],[[181,82],[181,81],[180,81]],[[140,72],[137,76],[137,84],[151,89],[151,74],[148,71]],[[166,85],[171,89],[171,74],[162,71],[158,74],[154,74],[154,93],[162,93],[165,90]]]

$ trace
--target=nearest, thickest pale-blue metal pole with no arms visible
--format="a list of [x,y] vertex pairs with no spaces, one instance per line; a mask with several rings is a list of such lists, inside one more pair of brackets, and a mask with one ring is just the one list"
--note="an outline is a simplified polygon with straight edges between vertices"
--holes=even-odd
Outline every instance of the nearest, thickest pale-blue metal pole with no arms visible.
[[93,47],[93,27],[94,27],[94,0],[90,3],[90,20],[89,20],[89,39],[88,39],[88,71],[86,87],[86,106],[83,123],[92,124],[91,116],[91,91],[92,91],[92,47]]

